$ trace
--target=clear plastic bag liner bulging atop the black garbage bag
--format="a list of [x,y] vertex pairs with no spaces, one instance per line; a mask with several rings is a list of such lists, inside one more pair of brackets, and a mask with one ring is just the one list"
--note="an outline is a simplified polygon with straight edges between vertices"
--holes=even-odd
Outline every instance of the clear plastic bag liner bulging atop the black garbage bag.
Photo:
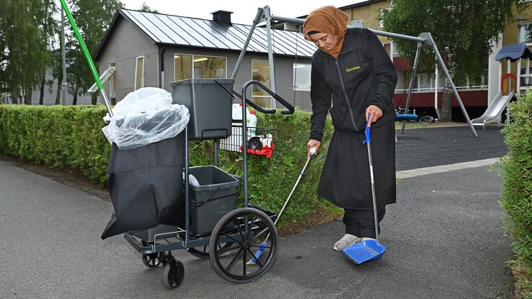
[[109,143],[133,149],[178,136],[190,119],[188,108],[172,104],[172,95],[161,88],[145,87],[129,93],[113,108],[113,118],[102,128]]

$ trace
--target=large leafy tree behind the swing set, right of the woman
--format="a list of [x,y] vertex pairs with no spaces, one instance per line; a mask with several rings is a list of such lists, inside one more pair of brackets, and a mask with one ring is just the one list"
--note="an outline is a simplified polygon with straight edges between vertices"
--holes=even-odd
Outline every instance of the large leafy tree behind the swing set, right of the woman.
[[[518,0],[399,0],[382,15],[384,30],[418,36],[430,32],[453,81],[480,78],[487,69],[491,42],[512,17]],[[414,61],[416,43],[394,39],[399,53]],[[434,74],[434,53],[421,47],[419,69]],[[451,120],[451,88],[446,83],[442,121]]]

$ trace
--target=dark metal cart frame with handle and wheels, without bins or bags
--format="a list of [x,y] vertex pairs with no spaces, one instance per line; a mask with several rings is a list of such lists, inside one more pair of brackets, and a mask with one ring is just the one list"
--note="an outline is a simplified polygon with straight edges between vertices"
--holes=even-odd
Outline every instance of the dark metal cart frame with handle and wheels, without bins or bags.
[[[275,257],[276,257],[276,240],[277,240],[277,229],[275,228],[275,217],[277,217],[277,213],[273,213],[271,211],[267,211],[264,208],[261,208],[259,206],[253,206],[248,203],[248,186],[247,186],[247,119],[246,119],[246,111],[247,105],[252,106],[257,111],[260,111],[262,113],[275,113],[275,109],[268,109],[268,108],[262,108],[258,106],[257,104],[253,103],[249,99],[247,99],[246,93],[247,88],[251,85],[257,85],[263,90],[265,90],[267,93],[269,93],[273,98],[275,98],[277,101],[282,103],[283,106],[286,107],[286,109],[280,111],[282,114],[292,114],[295,111],[295,108],[290,104],[287,103],[283,98],[278,96],[275,92],[270,90],[270,88],[267,88],[264,84],[260,83],[260,81],[247,81],[247,83],[244,84],[242,87],[242,94],[237,93],[234,89],[232,90],[232,95],[237,96],[242,101],[242,146],[243,146],[243,178],[241,179],[241,183],[243,184],[244,194],[243,194],[243,203],[242,208],[235,208],[232,211],[225,214],[225,216],[222,216],[218,223],[215,225],[215,228],[213,228],[213,231],[210,232],[210,234],[205,234],[204,236],[198,236],[195,238],[191,238],[190,235],[190,203],[189,203],[189,133],[188,133],[188,126],[185,128],[184,134],[185,134],[185,156],[184,156],[184,166],[183,171],[185,174],[184,178],[184,198],[185,198],[185,228],[178,228],[178,230],[171,231],[171,232],[165,232],[165,233],[157,233],[153,235],[153,242],[148,242],[147,240],[142,240],[141,238],[138,238],[138,236],[133,235],[132,232],[124,233],[124,238],[130,243],[135,250],[138,251],[138,253],[141,253],[143,255],[143,262],[145,265],[147,265],[150,268],[156,267],[160,263],[163,263],[165,269],[163,271],[163,284],[166,288],[175,289],[178,288],[180,283],[183,281],[184,277],[184,267],[183,263],[181,263],[179,260],[176,260],[171,252],[173,250],[180,250],[180,249],[186,249],[189,250],[191,248],[198,248],[198,247],[204,247],[209,246],[210,253],[204,253],[205,255],[203,258],[206,258],[206,256],[209,256],[211,262],[213,263],[213,268],[218,273],[218,275],[222,276],[222,278],[225,278],[227,280],[230,280],[234,283],[247,283],[249,281],[256,280],[257,278],[260,278],[260,276],[267,273],[267,270],[269,270],[273,263],[275,263]],[[227,91],[229,92],[229,91]],[[215,139],[215,166],[218,166],[218,139]],[[242,214],[243,216],[239,216]],[[255,217],[252,218],[252,221],[249,221],[249,217]],[[227,230],[227,224],[231,223],[237,223],[238,220],[242,220],[243,223],[233,225],[232,228],[229,230],[232,230],[232,233],[224,233],[224,230]],[[262,231],[259,233],[255,233],[255,228],[258,227],[257,223],[260,224],[262,221],[262,224],[266,226]],[[242,225],[244,225],[243,230],[241,229]],[[270,231],[272,230],[272,231]],[[270,247],[270,255],[267,257],[267,261],[264,265],[260,264],[259,270],[257,272],[252,273],[251,275],[246,275],[246,264],[243,263],[243,275],[233,275],[232,273],[228,273],[228,268],[232,268],[232,263],[235,262],[236,257],[232,260],[230,265],[227,267],[227,269],[224,269],[222,265],[220,265],[220,260],[218,260],[218,253],[223,253],[225,248],[222,248],[220,244],[232,244],[232,243],[239,243],[240,244],[240,250],[237,253],[237,255],[242,252],[243,260],[248,260],[249,258],[254,258],[255,255],[250,250],[254,246],[250,243],[250,240],[255,240],[261,237],[265,233],[269,233],[271,235],[270,238],[272,240],[275,240],[275,242],[272,242],[272,245]],[[184,236],[184,239],[183,239]],[[168,240],[172,239],[172,240]],[[165,243],[158,243],[158,240],[165,240]],[[218,245],[218,247],[217,247]],[[225,247],[225,246],[224,246]],[[247,253],[250,253],[249,258],[247,258]]]

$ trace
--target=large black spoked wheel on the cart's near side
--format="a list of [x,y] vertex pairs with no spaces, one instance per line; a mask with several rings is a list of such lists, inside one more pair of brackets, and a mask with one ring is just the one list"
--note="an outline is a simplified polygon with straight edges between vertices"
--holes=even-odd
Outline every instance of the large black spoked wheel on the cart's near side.
[[[219,250],[218,243],[223,243],[224,238],[235,245]],[[275,263],[277,229],[264,212],[237,208],[216,223],[210,235],[209,250],[210,261],[218,275],[233,283],[249,283],[265,275]]]

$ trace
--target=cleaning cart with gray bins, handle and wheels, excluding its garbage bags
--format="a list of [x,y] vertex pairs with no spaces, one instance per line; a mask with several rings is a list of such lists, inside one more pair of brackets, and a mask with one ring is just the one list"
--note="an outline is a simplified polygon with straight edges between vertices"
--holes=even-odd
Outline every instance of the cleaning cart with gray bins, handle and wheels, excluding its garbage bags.
[[[249,104],[262,113],[276,112],[275,109],[265,109],[244,100],[249,86],[260,86],[282,103],[287,109],[281,113],[294,112],[290,103],[258,81],[245,83],[242,96],[232,89],[232,83],[232,79],[188,79],[172,83],[173,101],[187,106],[190,111],[190,121],[183,132],[184,221],[180,225],[162,224],[124,234],[124,238],[142,254],[146,266],[153,268],[163,265],[163,284],[166,288],[178,288],[185,273],[183,263],[172,255],[173,250],[185,249],[198,258],[210,258],[215,272],[234,283],[256,280],[275,263],[277,229],[274,221],[277,213],[252,206],[247,201],[245,116],[241,136],[244,147],[242,178],[226,173],[216,165],[189,167],[190,140],[213,139],[216,142],[230,136],[233,96],[242,99],[242,109],[246,109]],[[195,185],[190,184],[192,177],[198,181]],[[240,184],[243,185],[243,203],[242,207],[236,208],[237,188]],[[256,251],[261,248],[267,235],[270,235],[268,245],[262,246],[262,252],[258,256]],[[252,258],[256,258],[256,263],[246,263]]]

